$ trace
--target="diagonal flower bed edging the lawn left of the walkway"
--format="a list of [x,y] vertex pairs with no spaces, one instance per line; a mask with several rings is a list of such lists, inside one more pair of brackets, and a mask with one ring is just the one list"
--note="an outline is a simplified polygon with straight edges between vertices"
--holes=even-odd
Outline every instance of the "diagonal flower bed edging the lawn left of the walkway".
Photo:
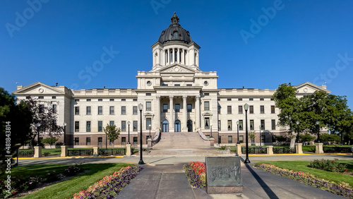
[[73,198],[114,198],[142,169],[136,166],[122,167],[111,176],[93,183],[87,190],[73,194]]

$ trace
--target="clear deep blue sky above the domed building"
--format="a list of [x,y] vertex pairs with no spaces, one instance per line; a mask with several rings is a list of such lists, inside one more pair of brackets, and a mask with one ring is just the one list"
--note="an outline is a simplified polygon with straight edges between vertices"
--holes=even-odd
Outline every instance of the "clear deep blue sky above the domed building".
[[[323,85],[353,107],[353,1],[0,2],[0,87],[136,88],[177,12],[218,88]],[[104,52],[111,56],[89,71]],[[107,59],[108,59],[107,58]],[[97,65],[98,66],[98,65]]]

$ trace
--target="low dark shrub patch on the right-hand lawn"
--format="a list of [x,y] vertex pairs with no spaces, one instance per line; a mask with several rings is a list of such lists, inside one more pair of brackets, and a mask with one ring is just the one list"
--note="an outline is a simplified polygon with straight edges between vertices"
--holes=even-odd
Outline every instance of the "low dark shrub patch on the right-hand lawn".
[[308,167],[312,167],[315,169],[321,169],[325,171],[331,172],[345,172],[346,169],[345,164],[340,164],[337,162],[338,159],[330,160],[330,159],[314,159],[313,162],[308,164]]

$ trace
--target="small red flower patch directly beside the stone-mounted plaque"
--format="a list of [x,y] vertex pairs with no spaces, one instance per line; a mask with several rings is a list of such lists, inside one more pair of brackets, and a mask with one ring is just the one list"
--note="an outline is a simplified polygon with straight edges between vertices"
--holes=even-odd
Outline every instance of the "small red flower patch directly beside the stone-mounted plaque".
[[206,186],[206,167],[203,162],[190,162],[184,164],[183,168],[191,186],[197,188]]

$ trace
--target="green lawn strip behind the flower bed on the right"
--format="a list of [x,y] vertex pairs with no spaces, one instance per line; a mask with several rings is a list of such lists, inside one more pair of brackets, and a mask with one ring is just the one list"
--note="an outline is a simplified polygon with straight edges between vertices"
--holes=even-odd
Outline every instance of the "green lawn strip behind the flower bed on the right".
[[[353,160],[339,160],[338,162],[347,165],[348,173],[353,171]],[[275,167],[280,167],[283,169],[289,169],[293,171],[304,171],[314,176],[326,179],[328,181],[341,182],[345,181],[349,185],[353,186],[353,176],[347,176],[345,174],[334,173],[330,171],[323,171],[321,169],[314,169],[307,167],[310,161],[265,161],[265,162],[256,162],[256,164],[273,164]]]

